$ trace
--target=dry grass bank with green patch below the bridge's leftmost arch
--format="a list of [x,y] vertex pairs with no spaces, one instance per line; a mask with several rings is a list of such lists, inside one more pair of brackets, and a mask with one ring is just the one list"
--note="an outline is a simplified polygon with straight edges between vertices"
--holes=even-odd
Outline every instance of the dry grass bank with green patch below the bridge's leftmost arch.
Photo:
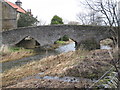
[[34,55],[35,52],[30,49],[20,47],[8,47],[4,52],[1,51],[0,63],[18,60],[23,57]]

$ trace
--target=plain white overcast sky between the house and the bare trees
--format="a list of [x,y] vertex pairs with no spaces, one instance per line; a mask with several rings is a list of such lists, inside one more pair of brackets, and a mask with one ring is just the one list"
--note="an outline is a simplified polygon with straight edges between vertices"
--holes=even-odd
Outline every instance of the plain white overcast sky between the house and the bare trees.
[[[15,3],[17,0],[8,0]],[[54,15],[60,16],[64,22],[77,21],[76,14],[84,9],[80,8],[80,0],[20,0],[22,7],[31,9],[38,19],[50,23]]]

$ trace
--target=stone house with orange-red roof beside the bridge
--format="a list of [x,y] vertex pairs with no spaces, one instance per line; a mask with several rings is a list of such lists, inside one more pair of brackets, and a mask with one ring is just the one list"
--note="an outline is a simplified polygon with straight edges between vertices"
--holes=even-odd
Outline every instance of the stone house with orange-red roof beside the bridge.
[[17,0],[15,4],[7,0],[0,1],[0,31],[17,28],[20,13],[26,13],[21,5],[20,0]]

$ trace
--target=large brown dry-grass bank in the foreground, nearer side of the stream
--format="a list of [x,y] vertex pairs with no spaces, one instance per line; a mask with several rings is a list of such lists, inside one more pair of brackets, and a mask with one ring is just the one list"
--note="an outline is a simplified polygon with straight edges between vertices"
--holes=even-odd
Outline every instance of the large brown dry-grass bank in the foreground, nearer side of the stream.
[[42,76],[74,76],[97,79],[111,67],[111,58],[107,50],[75,51],[49,56],[39,61],[33,61],[21,67],[16,67],[2,73],[3,86],[18,83],[23,77],[44,74]]

